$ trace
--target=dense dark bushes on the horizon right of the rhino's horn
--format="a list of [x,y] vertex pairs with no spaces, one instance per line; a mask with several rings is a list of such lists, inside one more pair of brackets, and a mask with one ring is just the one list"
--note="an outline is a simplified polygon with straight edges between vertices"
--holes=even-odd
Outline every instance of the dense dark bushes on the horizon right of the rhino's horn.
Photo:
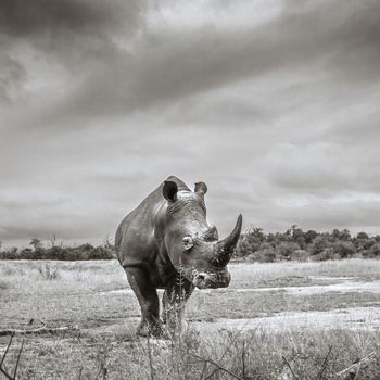
[[303,231],[297,226],[283,233],[265,233],[262,228],[251,228],[240,237],[235,257],[252,262],[380,258],[380,235],[352,236],[347,229]]

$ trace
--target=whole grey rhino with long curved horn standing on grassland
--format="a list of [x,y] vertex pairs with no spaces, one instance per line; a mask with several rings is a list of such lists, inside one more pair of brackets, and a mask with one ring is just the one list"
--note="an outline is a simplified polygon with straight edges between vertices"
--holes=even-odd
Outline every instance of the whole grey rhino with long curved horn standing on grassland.
[[194,287],[228,287],[227,264],[238,242],[242,217],[228,238],[219,241],[206,220],[204,194],[207,187],[195,183],[191,191],[170,176],[117,228],[118,259],[141,307],[141,335],[162,333],[156,289],[165,289],[163,320],[180,327],[185,303]]

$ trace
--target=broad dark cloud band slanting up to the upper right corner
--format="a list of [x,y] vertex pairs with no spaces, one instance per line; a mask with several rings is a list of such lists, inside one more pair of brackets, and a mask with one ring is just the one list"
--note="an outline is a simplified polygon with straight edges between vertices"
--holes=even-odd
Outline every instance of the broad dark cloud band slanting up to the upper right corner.
[[64,113],[127,112],[177,101],[267,72],[320,64],[331,80],[368,84],[380,59],[377,1],[306,2],[233,30],[203,25],[147,30],[74,90]]

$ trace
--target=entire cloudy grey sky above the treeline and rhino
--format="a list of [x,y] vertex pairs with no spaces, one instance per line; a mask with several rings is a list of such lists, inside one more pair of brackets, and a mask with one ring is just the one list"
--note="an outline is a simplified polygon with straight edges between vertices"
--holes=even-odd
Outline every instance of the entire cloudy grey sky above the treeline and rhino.
[[380,233],[378,0],[1,0],[0,239],[113,236],[170,174],[220,235]]

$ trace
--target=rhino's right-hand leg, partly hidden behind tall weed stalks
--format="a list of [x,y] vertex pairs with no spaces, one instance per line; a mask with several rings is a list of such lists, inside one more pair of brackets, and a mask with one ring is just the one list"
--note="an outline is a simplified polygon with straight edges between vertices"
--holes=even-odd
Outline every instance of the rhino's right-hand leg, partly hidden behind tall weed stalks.
[[185,279],[170,282],[163,295],[163,320],[170,332],[180,332],[186,328],[185,306],[194,286]]

